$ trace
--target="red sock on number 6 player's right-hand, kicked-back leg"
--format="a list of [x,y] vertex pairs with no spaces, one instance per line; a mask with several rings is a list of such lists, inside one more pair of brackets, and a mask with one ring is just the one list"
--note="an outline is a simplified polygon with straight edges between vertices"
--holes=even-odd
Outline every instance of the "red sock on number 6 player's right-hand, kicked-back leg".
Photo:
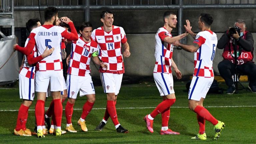
[[206,108],[200,105],[196,106],[196,108],[194,109],[194,112],[197,113],[202,118],[210,121],[213,125],[216,125],[218,123],[218,120],[214,118]]

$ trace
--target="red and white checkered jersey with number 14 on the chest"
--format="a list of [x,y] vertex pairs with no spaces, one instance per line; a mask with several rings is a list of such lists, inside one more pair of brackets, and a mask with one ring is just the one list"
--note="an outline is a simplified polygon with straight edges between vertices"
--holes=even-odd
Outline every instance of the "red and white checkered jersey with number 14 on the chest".
[[124,29],[112,26],[112,31],[105,32],[103,27],[93,30],[92,39],[99,45],[99,58],[108,65],[107,70],[100,67],[100,72],[124,73],[124,61],[121,53],[121,43],[127,42]]

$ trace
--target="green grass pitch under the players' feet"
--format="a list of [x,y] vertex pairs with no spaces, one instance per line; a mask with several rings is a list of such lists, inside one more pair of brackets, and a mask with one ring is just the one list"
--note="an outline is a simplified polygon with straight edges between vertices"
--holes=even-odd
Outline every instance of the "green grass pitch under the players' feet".
[[[247,85],[244,83],[244,85]],[[223,83],[220,87],[226,90]],[[95,131],[106,107],[106,95],[101,86],[95,86],[96,102],[94,109],[86,118],[88,132],[82,132],[77,121],[82,112],[86,97],[78,97],[72,117],[77,133],[69,133],[56,137],[46,135],[45,138],[36,136],[15,136],[13,130],[16,125],[18,109],[21,104],[18,88],[0,88],[0,143],[1,144],[255,144],[256,143],[256,94],[240,90],[238,94],[207,94],[204,106],[211,114],[225,123],[226,127],[217,141],[213,141],[213,125],[206,121],[206,141],[191,140],[198,133],[196,114],[188,107],[187,92],[184,82],[175,82],[174,90],[176,103],[171,107],[169,128],[180,132],[180,135],[160,135],[161,115],[154,120],[154,133],[146,129],[143,117],[149,114],[161,102],[156,85],[152,82],[132,85],[122,85],[117,98],[117,114],[119,122],[129,130],[129,133],[117,133],[111,121],[108,120],[102,131]],[[51,98],[45,104],[49,106]],[[35,123],[34,107],[30,107],[27,128],[33,129]],[[63,103],[65,108],[66,102]],[[11,111],[16,110],[16,111]],[[62,117],[62,129],[66,127],[65,114]]]

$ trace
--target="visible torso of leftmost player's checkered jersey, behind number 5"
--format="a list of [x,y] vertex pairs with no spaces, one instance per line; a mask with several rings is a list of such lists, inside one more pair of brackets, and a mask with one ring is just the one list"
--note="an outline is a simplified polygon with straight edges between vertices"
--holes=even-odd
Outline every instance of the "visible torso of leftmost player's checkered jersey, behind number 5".
[[[25,47],[27,46],[28,44],[28,41],[30,40],[30,38],[27,38],[26,42],[25,42]],[[34,47],[33,51],[32,51],[32,54],[34,54],[34,57],[37,57],[37,52],[36,52],[36,47]],[[21,75],[24,75],[28,78],[32,78],[34,79],[34,76],[35,76],[35,66],[34,65],[29,65],[28,64],[28,59],[27,59],[27,56],[24,55],[24,64],[22,66],[22,69],[20,70],[20,74]]]

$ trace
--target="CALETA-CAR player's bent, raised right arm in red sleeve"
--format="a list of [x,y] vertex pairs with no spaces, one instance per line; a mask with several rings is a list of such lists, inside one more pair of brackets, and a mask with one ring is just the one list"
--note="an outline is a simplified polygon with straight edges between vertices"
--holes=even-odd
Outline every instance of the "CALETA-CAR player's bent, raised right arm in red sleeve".
[[73,24],[73,22],[68,18],[68,17],[61,17],[60,21],[62,21],[63,23],[66,23],[69,25],[70,29],[71,29],[71,33],[69,33],[68,31],[64,31],[61,33],[61,36],[63,38],[66,38],[70,41],[77,41],[78,40],[78,35],[77,35],[77,31],[76,28]]

